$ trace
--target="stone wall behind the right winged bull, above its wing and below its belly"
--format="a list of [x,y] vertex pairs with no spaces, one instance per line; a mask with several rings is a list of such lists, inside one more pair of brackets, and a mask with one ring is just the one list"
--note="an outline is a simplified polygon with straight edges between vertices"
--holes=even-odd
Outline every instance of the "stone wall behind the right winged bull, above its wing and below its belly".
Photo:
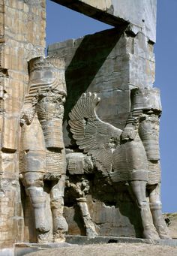
[[[130,88],[149,88],[154,83],[153,44],[142,32],[133,34],[124,25],[50,45],[48,54],[64,57],[67,64],[64,138],[68,149],[78,150],[70,133],[68,113],[83,92],[96,92],[101,98],[99,118],[123,129],[130,113]],[[90,191],[86,198],[99,235],[141,237],[139,212],[126,186],[107,185],[98,173],[88,179]],[[80,209],[67,191],[65,205],[68,232],[86,235]]]

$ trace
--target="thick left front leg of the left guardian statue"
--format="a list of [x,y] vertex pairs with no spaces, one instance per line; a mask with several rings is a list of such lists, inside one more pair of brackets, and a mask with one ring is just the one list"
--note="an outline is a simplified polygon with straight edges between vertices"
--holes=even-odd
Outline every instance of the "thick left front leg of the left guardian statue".
[[34,209],[35,228],[40,233],[49,231],[46,219],[46,195],[43,191],[43,173],[23,173],[23,183]]

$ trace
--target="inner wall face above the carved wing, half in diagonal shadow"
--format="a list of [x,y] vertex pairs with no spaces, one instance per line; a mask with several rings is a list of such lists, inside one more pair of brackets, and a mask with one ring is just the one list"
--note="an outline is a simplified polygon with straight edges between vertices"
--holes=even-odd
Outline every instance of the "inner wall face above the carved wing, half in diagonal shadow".
[[101,97],[98,115],[105,122],[110,122],[118,128],[124,127],[130,110],[129,58],[126,53],[126,42],[126,36],[122,32],[110,29],[75,41],[69,40],[49,46],[49,55],[64,56],[67,65],[65,146],[71,143],[67,128],[68,113],[83,92],[98,92]]

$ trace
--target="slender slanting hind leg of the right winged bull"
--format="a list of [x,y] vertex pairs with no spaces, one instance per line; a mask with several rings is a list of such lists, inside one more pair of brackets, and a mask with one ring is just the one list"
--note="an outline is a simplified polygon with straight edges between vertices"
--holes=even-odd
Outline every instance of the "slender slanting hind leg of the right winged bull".
[[95,230],[95,224],[92,221],[92,218],[89,214],[89,209],[87,206],[86,198],[80,197],[77,199],[78,204],[80,206],[80,210],[82,212],[83,221],[86,227],[86,236],[95,237],[98,236],[97,231]]

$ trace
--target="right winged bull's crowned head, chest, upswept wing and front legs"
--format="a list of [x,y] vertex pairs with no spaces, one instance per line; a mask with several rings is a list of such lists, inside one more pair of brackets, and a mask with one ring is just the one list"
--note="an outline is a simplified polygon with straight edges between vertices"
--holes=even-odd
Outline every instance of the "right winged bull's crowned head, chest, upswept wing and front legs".
[[[95,167],[118,185],[128,182],[139,207],[143,237],[168,239],[160,202],[158,89],[132,89],[131,110],[123,130],[101,121],[96,93],[83,93],[69,114],[77,145]],[[148,198],[147,198],[148,194]]]

